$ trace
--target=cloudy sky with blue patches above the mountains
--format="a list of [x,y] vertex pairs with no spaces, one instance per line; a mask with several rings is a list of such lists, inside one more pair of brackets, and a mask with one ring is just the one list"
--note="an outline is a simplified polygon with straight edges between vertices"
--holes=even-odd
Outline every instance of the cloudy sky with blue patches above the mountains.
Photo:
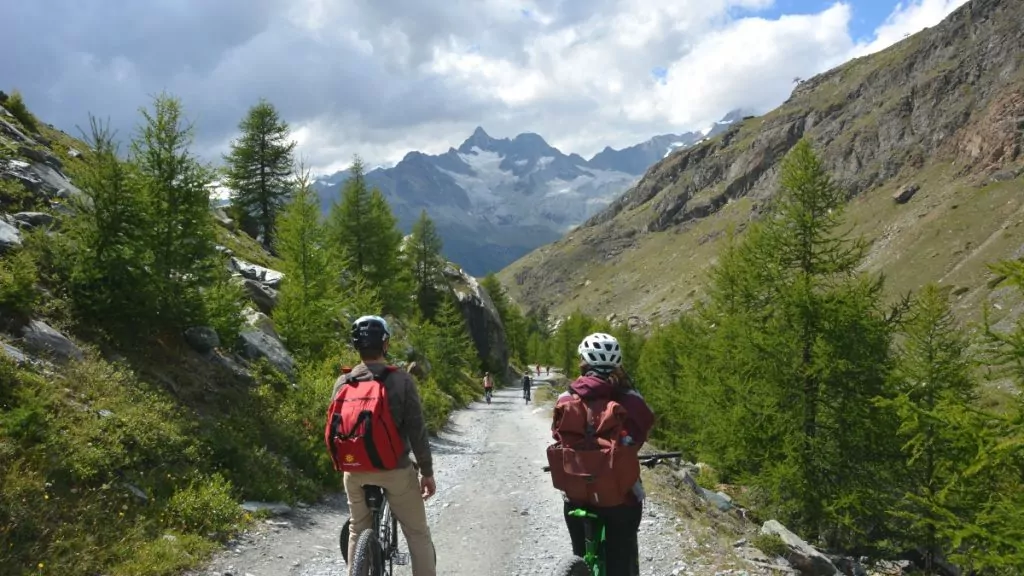
[[587,158],[765,112],[967,0],[0,0],[0,89],[74,134],[167,90],[219,158],[273,102],[318,171],[439,153],[477,125]]

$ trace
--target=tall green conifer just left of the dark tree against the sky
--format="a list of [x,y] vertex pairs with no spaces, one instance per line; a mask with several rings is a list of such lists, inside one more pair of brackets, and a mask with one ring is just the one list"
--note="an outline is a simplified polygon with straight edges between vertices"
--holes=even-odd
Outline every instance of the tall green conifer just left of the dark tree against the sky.
[[152,274],[161,325],[183,328],[203,316],[200,289],[213,279],[214,229],[209,186],[213,169],[190,151],[193,126],[181,101],[161,94],[131,146],[131,162],[152,217]]

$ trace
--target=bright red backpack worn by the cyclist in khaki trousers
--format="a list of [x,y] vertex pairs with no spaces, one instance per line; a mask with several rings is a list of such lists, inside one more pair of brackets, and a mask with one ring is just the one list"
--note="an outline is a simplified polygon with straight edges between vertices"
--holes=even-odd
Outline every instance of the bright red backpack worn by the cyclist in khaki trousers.
[[327,409],[324,440],[339,471],[390,470],[398,464],[406,445],[391,416],[384,381],[397,370],[387,366],[370,380],[346,374]]

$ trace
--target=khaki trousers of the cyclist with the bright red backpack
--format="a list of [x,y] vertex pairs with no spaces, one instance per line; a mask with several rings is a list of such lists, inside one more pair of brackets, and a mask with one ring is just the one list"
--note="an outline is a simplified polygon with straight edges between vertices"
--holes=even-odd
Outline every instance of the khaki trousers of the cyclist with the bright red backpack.
[[[364,486],[380,486],[384,489],[384,496],[391,505],[391,513],[398,520],[401,533],[406,535],[406,542],[409,544],[413,576],[435,576],[437,559],[434,558],[434,544],[430,539],[430,527],[427,526],[427,510],[420,495],[419,476],[412,465],[375,472],[345,472],[345,494],[348,496],[351,515],[349,562],[355,558],[355,544],[359,534],[373,528],[373,518],[362,494]],[[354,576],[351,565],[348,573]]]

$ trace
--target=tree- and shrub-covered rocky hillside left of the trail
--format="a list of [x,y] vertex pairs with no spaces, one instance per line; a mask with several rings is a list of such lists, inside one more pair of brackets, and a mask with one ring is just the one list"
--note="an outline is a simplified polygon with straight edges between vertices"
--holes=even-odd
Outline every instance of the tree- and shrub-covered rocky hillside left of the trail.
[[[257,181],[264,163],[280,177],[231,218],[211,207],[219,170],[191,152],[177,98],[119,142],[0,93],[0,573],[176,574],[253,520],[240,502],[337,490],[321,430],[357,316],[387,315],[431,430],[505,368],[489,297],[440,243],[403,252],[358,181],[338,203],[364,213],[326,221],[308,174],[286,176],[287,123],[265,101],[248,117],[231,177]],[[332,234],[368,214],[392,242]]]

